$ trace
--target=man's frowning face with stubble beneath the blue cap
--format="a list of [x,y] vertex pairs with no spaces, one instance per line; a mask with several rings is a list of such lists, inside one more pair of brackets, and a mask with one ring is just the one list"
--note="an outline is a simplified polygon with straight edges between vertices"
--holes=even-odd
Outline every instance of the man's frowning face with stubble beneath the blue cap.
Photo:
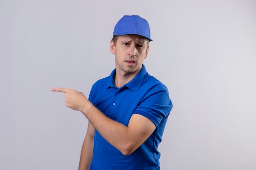
[[148,48],[148,40],[136,35],[121,35],[115,44],[111,40],[110,51],[115,54],[116,72],[123,76],[139,73]]

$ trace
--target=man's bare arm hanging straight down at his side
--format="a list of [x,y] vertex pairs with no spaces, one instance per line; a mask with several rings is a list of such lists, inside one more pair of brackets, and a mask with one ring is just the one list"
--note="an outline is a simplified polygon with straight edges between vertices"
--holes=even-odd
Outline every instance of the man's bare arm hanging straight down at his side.
[[92,155],[93,155],[93,139],[94,139],[94,133],[95,129],[88,122],[88,128],[87,128],[87,133],[85,135],[85,140],[83,142],[83,147],[81,151],[81,156],[80,156],[80,162],[79,162],[79,170],[89,170],[90,169],[90,164],[92,162]]

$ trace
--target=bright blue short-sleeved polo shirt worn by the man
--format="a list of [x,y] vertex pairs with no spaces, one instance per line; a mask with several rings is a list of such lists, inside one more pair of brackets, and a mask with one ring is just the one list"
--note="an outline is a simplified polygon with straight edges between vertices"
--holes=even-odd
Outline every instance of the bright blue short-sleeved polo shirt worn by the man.
[[93,158],[90,170],[160,170],[160,153],[164,127],[172,109],[172,102],[164,84],[149,75],[144,65],[141,71],[121,88],[114,86],[115,70],[97,81],[89,100],[102,113],[125,126],[132,114],[150,119],[155,131],[137,150],[124,156],[95,130]]

